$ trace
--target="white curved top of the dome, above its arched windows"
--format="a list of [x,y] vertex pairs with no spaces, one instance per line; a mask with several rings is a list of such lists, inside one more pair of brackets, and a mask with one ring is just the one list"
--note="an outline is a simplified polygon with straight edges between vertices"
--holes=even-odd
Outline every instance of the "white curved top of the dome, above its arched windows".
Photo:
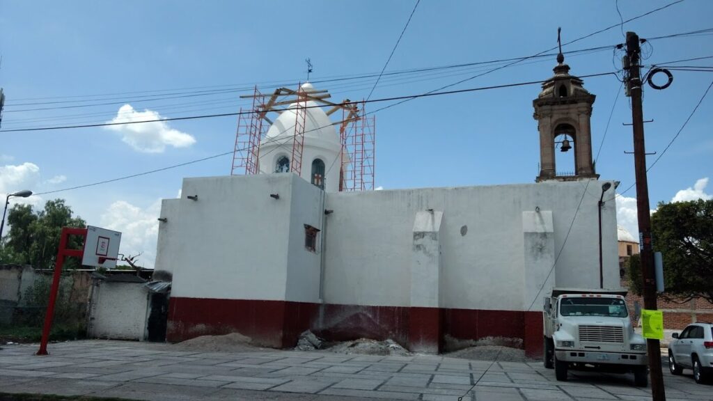
[[[301,88],[306,92],[314,91],[311,83],[304,83]],[[339,135],[337,128],[332,125],[332,120],[329,119],[327,113],[322,107],[314,101],[307,101],[307,116],[304,119],[304,138],[309,141],[310,138],[318,139],[334,146],[341,147],[339,143]],[[294,123],[297,120],[297,103],[289,105],[286,111],[283,111],[275,123],[272,123],[270,129],[267,130],[265,140],[275,141],[277,138],[292,138],[294,136]],[[305,143],[307,144],[307,142]]]

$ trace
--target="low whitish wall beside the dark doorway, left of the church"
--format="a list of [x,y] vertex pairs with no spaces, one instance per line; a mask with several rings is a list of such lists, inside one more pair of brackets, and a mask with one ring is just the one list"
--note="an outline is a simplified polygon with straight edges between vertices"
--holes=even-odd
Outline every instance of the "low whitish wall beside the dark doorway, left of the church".
[[143,284],[101,282],[92,297],[89,336],[144,340],[147,307]]

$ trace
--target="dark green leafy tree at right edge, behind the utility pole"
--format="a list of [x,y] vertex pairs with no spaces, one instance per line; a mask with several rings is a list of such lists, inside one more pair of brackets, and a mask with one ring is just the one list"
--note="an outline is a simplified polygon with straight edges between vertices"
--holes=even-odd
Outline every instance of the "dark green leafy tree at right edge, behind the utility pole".
[[659,203],[651,227],[666,294],[713,303],[713,199]]

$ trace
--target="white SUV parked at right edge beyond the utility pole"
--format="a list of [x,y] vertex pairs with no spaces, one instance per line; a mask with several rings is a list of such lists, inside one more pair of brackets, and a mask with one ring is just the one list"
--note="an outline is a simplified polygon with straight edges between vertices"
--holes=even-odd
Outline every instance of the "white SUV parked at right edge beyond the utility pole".
[[682,333],[673,333],[669,350],[669,369],[680,375],[684,368],[693,370],[697,383],[713,379],[713,324],[692,323]]

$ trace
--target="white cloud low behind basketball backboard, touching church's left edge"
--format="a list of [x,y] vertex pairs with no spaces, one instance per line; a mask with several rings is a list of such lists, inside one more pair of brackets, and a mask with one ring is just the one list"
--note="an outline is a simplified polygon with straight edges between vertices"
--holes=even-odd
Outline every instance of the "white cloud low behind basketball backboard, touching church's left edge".
[[101,215],[101,227],[121,232],[119,253],[125,256],[142,253],[136,263],[144,268],[153,268],[158,239],[156,219],[160,210],[160,199],[145,209],[125,200],[117,200]]

